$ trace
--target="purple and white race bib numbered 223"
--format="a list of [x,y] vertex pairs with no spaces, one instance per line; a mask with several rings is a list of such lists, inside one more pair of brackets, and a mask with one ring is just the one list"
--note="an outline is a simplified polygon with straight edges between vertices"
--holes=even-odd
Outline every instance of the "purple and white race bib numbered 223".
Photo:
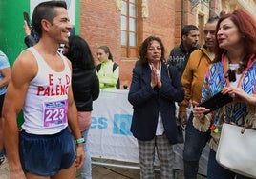
[[67,124],[67,100],[44,103],[44,127],[54,127]]

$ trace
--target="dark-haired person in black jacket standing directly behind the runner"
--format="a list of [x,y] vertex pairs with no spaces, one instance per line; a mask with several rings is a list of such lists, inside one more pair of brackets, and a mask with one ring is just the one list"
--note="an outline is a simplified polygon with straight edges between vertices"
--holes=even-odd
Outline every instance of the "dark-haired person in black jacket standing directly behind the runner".
[[93,101],[99,95],[99,82],[96,76],[95,62],[87,42],[79,36],[70,36],[64,46],[63,54],[72,63],[72,89],[78,123],[84,136],[85,163],[81,169],[82,179],[92,178],[91,156],[87,136],[92,123]]

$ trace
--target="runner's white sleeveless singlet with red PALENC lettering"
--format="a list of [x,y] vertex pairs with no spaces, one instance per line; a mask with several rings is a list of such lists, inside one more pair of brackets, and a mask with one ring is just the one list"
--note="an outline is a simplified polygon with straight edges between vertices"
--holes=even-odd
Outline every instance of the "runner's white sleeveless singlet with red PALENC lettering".
[[34,48],[29,48],[38,65],[23,105],[22,129],[32,134],[54,134],[68,126],[68,90],[71,87],[71,69],[67,59],[59,54],[64,70],[53,70]]

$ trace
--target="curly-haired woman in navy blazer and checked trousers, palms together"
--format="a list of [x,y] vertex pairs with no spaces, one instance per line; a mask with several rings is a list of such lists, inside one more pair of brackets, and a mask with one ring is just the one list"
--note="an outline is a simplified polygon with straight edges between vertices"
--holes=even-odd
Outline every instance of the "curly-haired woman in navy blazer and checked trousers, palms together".
[[149,36],[139,48],[139,61],[133,70],[128,100],[133,105],[131,131],[138,139],[140,178],[154,176],[157,150],[161,179],[172,178],[177,143],[175,101],[181,102],[184,90],[175,67],[170,78],[165,64],[164,47],[158,37]]

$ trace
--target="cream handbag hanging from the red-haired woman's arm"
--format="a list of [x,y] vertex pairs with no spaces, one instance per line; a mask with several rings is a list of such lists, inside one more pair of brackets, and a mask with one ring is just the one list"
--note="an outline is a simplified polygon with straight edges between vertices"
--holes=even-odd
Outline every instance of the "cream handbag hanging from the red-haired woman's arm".
[[223,124],[216,160],[225,169],[256,178],[256,130]]

